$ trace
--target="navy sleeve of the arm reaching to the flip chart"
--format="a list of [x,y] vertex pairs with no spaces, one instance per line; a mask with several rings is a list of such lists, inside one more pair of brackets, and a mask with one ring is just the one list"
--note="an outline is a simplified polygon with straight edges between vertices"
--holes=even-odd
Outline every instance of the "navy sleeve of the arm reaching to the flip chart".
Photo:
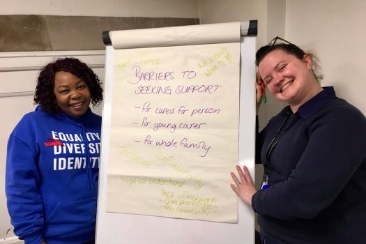
[[366,119],[342,109],[313,121],[309,141],[287,180],[260,190],[252,207],[280,220],[314,218],[329,206],[366,157]]

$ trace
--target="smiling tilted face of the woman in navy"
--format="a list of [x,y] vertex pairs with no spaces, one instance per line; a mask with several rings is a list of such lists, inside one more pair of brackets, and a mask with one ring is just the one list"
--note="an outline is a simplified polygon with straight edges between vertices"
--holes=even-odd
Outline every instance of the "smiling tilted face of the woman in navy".
[[307,55],[298,59],[275,49],[264,56],[258,70],[270,93],[277,100],[287,102],[293,112],[322,90],[312,73],[312,59]]

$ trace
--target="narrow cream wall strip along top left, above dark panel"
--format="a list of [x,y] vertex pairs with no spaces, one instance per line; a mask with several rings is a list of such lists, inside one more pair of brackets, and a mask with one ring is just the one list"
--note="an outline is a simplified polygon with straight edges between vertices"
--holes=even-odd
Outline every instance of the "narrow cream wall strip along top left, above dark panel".
[[198,16],[198,0],[0,0],[0,6],[0,15]]

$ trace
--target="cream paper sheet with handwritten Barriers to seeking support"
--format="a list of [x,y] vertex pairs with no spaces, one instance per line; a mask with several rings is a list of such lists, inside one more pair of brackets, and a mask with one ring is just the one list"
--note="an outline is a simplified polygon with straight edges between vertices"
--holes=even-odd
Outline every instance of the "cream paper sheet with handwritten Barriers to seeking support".
[[240,43],[116,50],[107,211],[238,221]]

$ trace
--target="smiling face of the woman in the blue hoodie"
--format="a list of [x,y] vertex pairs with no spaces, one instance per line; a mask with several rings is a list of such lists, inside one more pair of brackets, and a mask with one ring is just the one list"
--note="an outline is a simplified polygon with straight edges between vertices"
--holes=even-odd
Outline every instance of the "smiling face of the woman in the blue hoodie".
[[75,118],[85,114],[91,102],[90,91],[86,82],[65,71],[56,72],[54,95],[61,111]]

